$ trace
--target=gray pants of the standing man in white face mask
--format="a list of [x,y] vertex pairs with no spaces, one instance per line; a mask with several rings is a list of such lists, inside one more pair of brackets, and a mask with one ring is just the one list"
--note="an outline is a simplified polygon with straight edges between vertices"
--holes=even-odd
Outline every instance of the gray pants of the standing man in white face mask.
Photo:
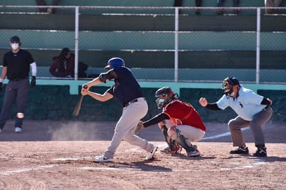
[[[0,114],[0,128],[3,128],[6,121],[10,119],[12,104],[14,103],[15,99],[17,100],[17,112],[25,113],[29,87],[28,77],[19,81],[8,81]],[[22,127],[22,124],[23,119],[16,117],[15,127]]]

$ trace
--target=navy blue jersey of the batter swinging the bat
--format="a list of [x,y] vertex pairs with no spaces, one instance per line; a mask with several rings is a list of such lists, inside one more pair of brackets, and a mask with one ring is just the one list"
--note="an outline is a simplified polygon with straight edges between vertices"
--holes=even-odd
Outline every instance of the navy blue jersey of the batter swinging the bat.
[[115,71],[117,78],[115,78],[115,84],[107,92],[115,96],[122,105],[136,98],[144,97],[142,89],[130,69],[127,67],[117,67],[108,72],[110,71]]

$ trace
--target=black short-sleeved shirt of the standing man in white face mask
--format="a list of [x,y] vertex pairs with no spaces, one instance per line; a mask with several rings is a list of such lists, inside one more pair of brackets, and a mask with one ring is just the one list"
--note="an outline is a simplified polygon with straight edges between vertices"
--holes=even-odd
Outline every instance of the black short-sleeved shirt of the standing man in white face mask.
[[26,78],[30,71],[30,64],[35,62],[31,53],[19,49],[17,53],[9,51],[3,57],[3,67],[7,67],[7,78]]

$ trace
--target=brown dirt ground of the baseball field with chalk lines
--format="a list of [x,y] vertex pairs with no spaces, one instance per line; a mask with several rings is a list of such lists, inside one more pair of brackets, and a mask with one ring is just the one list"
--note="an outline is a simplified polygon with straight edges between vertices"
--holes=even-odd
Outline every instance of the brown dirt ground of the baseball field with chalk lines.
[[[163,154],[158,127],[140,137],[159,146],[153,161],[122,141],[113,163],[94,163],[112,138],[112,122],[24,121],[21,134],[8,121],[0,133],[0,189],[286,189],[286,123],[267,123],[268,157],[230,155],[226,123],[206,123],[197,142],[201,157]],[[250,153],[251,130],[244,130]]]

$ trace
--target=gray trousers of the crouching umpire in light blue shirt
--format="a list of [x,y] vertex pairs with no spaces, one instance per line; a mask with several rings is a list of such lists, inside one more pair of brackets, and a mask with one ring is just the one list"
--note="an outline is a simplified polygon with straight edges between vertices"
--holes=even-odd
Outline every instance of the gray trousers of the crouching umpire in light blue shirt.
[[230,130],[231,138],[233,139],[233,146],[244,146],[244,136],[242,133],[242,128],[250,127],[251,132],[254,137],[255,146],[264,145],[264,134],[262,131],[262,126],[269,121],[272,116],[272,109],[268,105],[261,112],[255,114],[252,121],[246,121],[240,116],[235,119],[231,119],[228,122],[228,128]]

